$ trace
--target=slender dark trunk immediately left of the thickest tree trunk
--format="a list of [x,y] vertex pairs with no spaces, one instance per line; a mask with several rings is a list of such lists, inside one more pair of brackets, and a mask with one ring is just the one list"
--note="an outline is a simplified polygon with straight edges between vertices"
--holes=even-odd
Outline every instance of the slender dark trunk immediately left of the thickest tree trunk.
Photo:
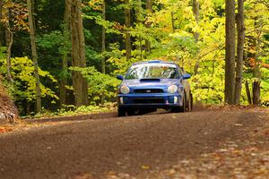
[[63,61],[62,68],[64,74],[61,76],[60,80],[60,106],[64,107],[66,104],[66,88],[67,85],[67,71],[68,71],[68,54],[70,52],[69,43],[70,43],[70,16],[71,16],[71,4],[70,0],[65,0],[65,17],[64,17],[64,52],[63,52]]

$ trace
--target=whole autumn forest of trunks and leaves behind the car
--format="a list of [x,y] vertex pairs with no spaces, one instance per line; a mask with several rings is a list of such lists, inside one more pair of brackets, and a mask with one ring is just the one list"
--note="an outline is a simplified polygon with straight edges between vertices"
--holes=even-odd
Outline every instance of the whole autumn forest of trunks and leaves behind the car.
[[1,0],[0,76],[20,115],[109,110],[161,59],[204,105],[269,103],[268,0]]

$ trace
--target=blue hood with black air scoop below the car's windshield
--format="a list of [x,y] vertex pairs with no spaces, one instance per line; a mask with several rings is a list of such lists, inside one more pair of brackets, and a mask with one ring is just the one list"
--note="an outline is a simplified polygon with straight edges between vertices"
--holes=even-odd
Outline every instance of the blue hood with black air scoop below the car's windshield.
[[178,84],[179,79],[160,79],[160,80],[125,80],[122,85],[126,85],[129,88],[151,88],[151,87],[161,87],[166,88],[171,84]]

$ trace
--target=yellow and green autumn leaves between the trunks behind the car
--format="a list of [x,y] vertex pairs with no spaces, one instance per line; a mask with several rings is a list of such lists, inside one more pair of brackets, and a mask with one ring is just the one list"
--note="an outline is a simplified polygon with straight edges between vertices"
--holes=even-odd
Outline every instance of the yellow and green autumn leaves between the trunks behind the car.
[[[41,75],[43,106],[56,111],[59,89],[57,81],[66,80],[67,108],[74,112],[74,94],[72,87],[73,70],[82,72],[88,81],[89,96],[92,104],[100,104],[100,96],[106,101],[116,101],[116,74],[125,74],[127,68],[138,61],[162,59],[183,66],[192,74],[191,88],[194,98],[204,103],[222,103],[224,91],[224,45],[225,45],[225,4],[223,0],[199,0],[199,21],[195,21],[193,1],[154,0],[153,12],[142,9],[137,14],[137,1],[106,1],[106,21],[102,18],[102,0],[84,0],[82,7],[85,55],[87,68],[63,70],[63,56],[67,55],[68,67],[72,66],[71,39],[64,36],[65,1],[37,0],[35,18],[37,27],[37,45]],[[260,64],[269,64],[269,10],[262,1],[245,1],[246,43],[244,62],[244,81],[254,80],[253,65],[250,58]],[[19,3],[18,3],[19,4]],[[22,6],[24,2],[20,4]],[[131,9],[131,28],[128,29],[132,41],[132,57],[126,60],[125,8]],[[23,13],[23,12],[22,12]],[[172,19],[173,16],[173,19]],[[19,18],[16,17],[15,19]],[[173,23],[173,24],[172,24]],[[106,51],[101,53],[101,32],[106,29]],[[174,29],[173,29],[174,28]],[[195,33],[199,38],[194,38]],[[30,42],[27,31],[14,31],[13,56],[30,55]],[[150,42],[151,51],[147,51],[146,42]],[[6,47],[0,47],[1,74],[5,75]],[[106,74],[101,73],[101,59],[106,60]],[[269,70],[260,68],[261,97],[269,100]],[[33,110],[35,99],[35,81],[30,59],[15,57],[12,59],[13,85],[10,90],[21,108],[25,101]],[[56,80],[55,80],[56,79]],[[243,82],[244,82],[243,81]],[[251,88],[251,83],[250,83]],[[49,88],[48,88],[49,87]],[[243,85],[244,87],[244,85]],[[24,100],[24,103],[20,103]],[[18,102],[19,101],[19,102]],[[242,90],[242,103],[247,103],[246,91]],[[94,107],[93,107],[94,108]],[[25,109],[25,107],[24,107]],[[79,110],[91,111],[91,107]],[[78,112],[75,111],[75,112]],[[69,113],[68,110],[65,111]],[[65,113],[63,112],[63,113]],[[49,112],[50,113],[50,112]]]

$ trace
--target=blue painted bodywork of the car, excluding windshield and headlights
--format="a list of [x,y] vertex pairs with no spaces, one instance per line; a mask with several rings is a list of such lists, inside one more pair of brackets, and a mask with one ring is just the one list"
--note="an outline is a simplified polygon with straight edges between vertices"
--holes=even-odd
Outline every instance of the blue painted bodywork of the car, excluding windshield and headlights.
[[[178,64],[172,62],[162,62],[161,60],[152,60],[137,64],[168,64],[175,65],[178,72]],[[128,72],[128,71],[127,71]],[[183,105],[184,95],[184,76],[177,79],[132,79],[123,80],[120,87],[127,86],[130,90],[128,94],[118,93],[117,98],[123,98],[124,104],[118,103],[120,107],[156,107],[156,108],[169,108],[181,107]],[[169,93],[168,88],[170,85],[176,85],[178,91]],[[119,90],[120,91],[120,90]],[[175,102],[175,97],[177,101]],[[119,100],[117,100],[119,101]]]

